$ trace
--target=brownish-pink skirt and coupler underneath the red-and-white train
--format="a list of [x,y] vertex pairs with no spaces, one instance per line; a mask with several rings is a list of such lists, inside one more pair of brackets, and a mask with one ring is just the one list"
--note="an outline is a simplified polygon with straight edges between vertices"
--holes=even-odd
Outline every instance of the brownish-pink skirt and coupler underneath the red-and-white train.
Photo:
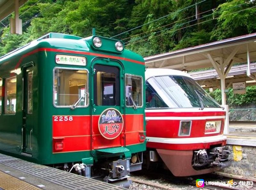
[[211,173],[230,166],[227,146],[200,150],[149,149],[144,153],[147,169],[162,167],[174,176]]

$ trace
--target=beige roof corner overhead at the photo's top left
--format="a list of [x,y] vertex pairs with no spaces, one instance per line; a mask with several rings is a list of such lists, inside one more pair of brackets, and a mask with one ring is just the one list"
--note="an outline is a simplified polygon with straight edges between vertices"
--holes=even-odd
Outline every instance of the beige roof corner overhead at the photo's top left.
[[[28,0],[19,0],[19,7]],[[0,21],[12,14],[15,10],[15,0],[0,0]]]

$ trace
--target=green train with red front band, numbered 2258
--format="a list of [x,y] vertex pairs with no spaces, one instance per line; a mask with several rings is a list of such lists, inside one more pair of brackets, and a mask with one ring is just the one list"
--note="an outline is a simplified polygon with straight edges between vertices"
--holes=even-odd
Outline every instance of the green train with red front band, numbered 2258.
[[94,34],[49,33],[4,55],[0,151],[125,181],[146,150],[144,72],[140,55]]

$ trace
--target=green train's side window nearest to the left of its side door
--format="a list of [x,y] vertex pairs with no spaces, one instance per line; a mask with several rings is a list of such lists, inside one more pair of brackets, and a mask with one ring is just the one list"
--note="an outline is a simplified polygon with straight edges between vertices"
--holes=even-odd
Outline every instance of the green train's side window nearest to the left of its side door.
[[16,76],[5,79],[5,114],[15,114],[16,113],[16,86],[17,78]]

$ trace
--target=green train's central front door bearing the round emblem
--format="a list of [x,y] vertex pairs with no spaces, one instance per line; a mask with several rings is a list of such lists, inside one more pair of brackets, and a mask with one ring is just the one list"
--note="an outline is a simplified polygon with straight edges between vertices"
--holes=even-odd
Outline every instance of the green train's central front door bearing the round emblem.
[[92,67],[92,150],[124,146],[123,68],[105,62],[97,59]]

